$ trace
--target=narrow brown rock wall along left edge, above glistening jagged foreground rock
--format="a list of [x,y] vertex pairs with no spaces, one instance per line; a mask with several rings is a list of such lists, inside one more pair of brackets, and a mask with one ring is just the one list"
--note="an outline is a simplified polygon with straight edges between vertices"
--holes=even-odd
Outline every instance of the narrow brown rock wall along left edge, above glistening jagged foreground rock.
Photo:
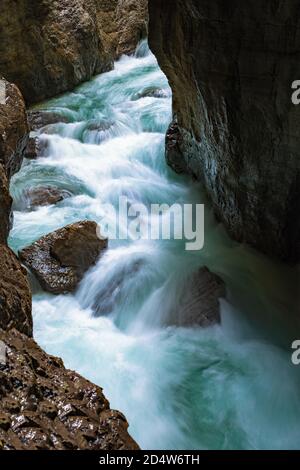
[[7,247],[12,222],[9,179],[22,164],[28,128],[18,88],[4,83],[5,102],[0,104],[0,328],[18,328],[30,336],[31,293],[26,272]]

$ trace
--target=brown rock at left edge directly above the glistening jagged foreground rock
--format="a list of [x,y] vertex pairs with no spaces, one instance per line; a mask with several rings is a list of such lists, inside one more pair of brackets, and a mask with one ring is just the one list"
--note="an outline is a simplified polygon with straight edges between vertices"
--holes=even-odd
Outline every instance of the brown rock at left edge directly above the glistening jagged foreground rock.
[[0,245],[0,328],[32,335],[31,292],[16,255]]

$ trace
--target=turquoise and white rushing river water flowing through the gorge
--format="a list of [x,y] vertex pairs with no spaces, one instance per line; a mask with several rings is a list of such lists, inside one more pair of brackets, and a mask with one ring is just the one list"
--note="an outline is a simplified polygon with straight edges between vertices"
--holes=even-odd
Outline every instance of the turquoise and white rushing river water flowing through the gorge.
[[[162,96],[142,97],[149,87]],[[145,44],[40,108],[69,122],[41,131],[47,158],[26,161],[13,179],[13,249],[74,221],[98,221],[102,204],[117,206],[121,195],[146,205],[205,202],[198,184],[165,164],[171,91]],[[45,184],[73,196],[20,210],[24,191]],[[104,388],[144,449],[299,448],[300,374],[290,359],[300,337],[297,271],[230,241],[206,207],[198,253],[178,240],[111,241],[74,295],[35,287],[35,338]],[[227,284],[221,326],[163,326],[188,274],[203,265]]]

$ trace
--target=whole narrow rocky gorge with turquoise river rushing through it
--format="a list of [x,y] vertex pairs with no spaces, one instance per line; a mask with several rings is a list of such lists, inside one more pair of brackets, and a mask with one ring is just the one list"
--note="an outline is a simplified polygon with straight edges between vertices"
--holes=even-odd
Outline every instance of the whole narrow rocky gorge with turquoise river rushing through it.
[[[273,333],[243,330],[252,310],[272,326],[279,311],[299,319],[293,268],[260,255],[300,255],[297,8],[266,5],[4,1],[0,449],[260,448],[272,393],[297,402],[288,367],[265,393],[286,338],[277,350]],[[100,205],[124,194],[208,196],[245,244],[209,209],[199,255],[99,238]],[[274,416],[280,448],[288,423]]]

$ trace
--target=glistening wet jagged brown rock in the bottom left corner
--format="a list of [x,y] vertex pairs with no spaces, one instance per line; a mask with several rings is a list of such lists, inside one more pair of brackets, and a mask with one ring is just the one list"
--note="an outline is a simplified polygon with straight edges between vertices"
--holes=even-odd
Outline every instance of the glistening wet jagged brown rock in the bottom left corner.
[[0,448],[4,450],[137,450],[126,418],[102,389],[16,330],[0,330]]

